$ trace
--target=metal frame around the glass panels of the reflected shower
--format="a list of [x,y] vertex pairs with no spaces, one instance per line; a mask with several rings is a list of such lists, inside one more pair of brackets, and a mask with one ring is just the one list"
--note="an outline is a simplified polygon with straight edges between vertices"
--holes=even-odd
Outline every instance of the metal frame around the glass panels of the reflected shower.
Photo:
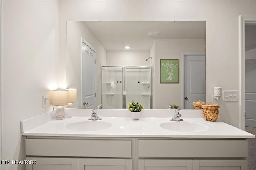
[[122,67],[123,69],[123,109],[126,109],[126,68],[134,68],[134,69],[150,69],[150,109],[152,109],[153,101],[152,101],[152,66],[101,66],[101,104],[103,106],[103,91],[102,91],[102,68],[103,67]]

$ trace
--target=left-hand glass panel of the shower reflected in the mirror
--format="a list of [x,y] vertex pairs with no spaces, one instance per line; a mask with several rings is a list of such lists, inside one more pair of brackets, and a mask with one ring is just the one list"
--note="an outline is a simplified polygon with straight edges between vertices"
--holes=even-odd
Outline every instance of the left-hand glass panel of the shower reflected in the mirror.
[[123,67],[102,66],[102,108],[123,108]]

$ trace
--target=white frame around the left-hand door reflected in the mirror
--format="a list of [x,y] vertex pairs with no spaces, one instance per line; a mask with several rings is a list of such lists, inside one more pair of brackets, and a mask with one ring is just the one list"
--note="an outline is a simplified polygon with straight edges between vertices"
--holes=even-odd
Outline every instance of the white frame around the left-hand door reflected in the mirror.
[[[80,52],[81,52],[81,58],[80,58],[80,63],[81,63],[81,65],[80,65],[80,70],[81,70],[81,72],[80,72],[80,74],[81,74],[81,77],[80,77],[80,80],[81,80],[81,84],[80,84],[80,86],[81,86],[81,107],[83,107],[83,88],[82,88],[82,85],[83,85],[83,82],[82,82],[82,58],[83,58],[83,54],[82,54],[82,50],[83,50],[83,43],[85,43],[85,45],[87,45],[88,47],[90,47],[90,49],[92,49],[94,52],[95,52],[95,54],[96,54],[96,49],[94,49],[94,47],[92,47],[92,45],[90,45],[90,43],[88,43],[85,39],[83,39],[83,37],[81,37],[81,50],[80,50]],[[96,55],[97,56],[97,55]],[[95,57],[95,60],[96,60],[96,57]],[[95,73],[95,77],[94,77],[94,92],[96,93],[96,69],[97,69],[97,65],[95,64],[95,69],[94,69],[94,73]],[[96,107],[96,97],[95,97],[95,99],[94,99],[94,103],[95,103],[95,107]]]

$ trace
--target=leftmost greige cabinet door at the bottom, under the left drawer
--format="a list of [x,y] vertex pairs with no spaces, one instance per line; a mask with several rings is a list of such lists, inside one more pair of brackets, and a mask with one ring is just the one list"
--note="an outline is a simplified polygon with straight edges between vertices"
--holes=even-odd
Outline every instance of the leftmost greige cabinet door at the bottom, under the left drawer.
[[77,158],[40,158],[27,157],[26,160],[36,161],[36,164],[26,165],[26,170],[77,170]]

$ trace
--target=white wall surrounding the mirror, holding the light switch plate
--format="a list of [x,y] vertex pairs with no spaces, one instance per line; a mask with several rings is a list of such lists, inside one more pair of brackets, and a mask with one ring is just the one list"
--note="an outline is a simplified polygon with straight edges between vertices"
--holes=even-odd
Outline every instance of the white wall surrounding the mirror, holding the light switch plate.
[[[60,83],[65,82],[66,21],[205,20],[206,102],[215,86],[239,89],[239,15],[256,15],[256,1],[74,1],[59,2]],[[86,9],[86,10],[85,10]],[[226,68],[226,63],[232,67]],[[218,69],[216,69],[218,67]],[[156,74],[157,75],[157,74]],[[212,76],[216,75],[216,76]],[[228,77],[232,77],[228,79]],[[240,100],[240,99],[239,99]],[[240,127],[238,102],[221,102],[222,121]]]

